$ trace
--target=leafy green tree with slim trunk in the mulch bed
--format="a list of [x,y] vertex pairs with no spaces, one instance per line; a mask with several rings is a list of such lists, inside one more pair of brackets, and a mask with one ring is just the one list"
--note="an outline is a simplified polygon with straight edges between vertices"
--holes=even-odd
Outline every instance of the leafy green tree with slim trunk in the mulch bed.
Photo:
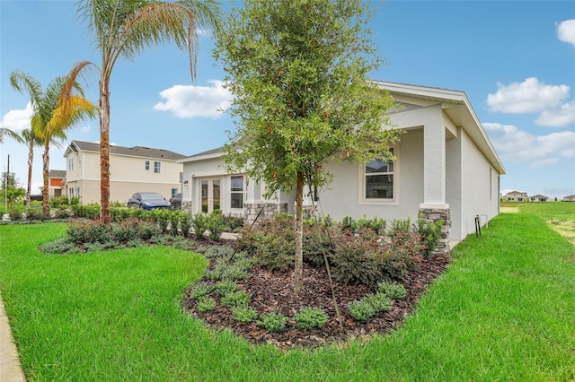
[[299,240],[304,184],[329,183],[328,161],[393,158],[394,100],[367,77],[384,63],[368,28],[373,12],[362,0],[249,0],[217,39],[234,94],[227,169],[263,180],[268,195],[295,188]]

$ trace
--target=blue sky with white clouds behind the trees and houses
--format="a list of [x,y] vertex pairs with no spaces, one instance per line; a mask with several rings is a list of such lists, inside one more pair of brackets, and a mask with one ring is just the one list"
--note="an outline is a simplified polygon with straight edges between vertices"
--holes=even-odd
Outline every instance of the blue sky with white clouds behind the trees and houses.
[[[230,2],[223,2],[226,9]],[[376,3],[374,41],[386,57],[371,78],[465,91],[507,174],[501,191],[559,197],[575,194],[575,2],[401,1]],[[213,41],[202,35],[198,75],[190,81],[187,53],[153,48],[118,62],[111,78],[111,143],[163,148],[184,155],[226,142],[234,129],[221,88],[223,70]],[[93,35],[75,1],[0,0],[0,124],[20,132],[29,124],[26,95],[10,86],[14,70],[46,86],[76,63],[100,63]],[[97,103],[97,76],[88,77]],[[71,140],[98,142],[97,119],[67,133],[50,151],[50,169],[66,169]],[[0,169],[22,185],[27,150],[4,139]],[[34,193],[41,184],[41,150],[34,161]]]

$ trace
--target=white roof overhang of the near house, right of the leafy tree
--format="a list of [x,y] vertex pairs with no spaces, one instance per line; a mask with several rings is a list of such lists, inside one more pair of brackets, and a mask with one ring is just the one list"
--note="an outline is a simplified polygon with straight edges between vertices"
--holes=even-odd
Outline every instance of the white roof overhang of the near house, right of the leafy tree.
[[402,95],[420,100],[438,101],[443,105],[443,111],[456,126],[461,126],[465,133],[477,144],[483,155],[491,162],[491,165],[503,175],[505,168],[500,161],[497,152],[493,148],[489,137],[485,133],[479,118],[475,114],[471,102],[467,99],[464,91],[432,88],[429,86],[411,85],[398,82],[373,81],[380,88],[389,91],[392,96]]

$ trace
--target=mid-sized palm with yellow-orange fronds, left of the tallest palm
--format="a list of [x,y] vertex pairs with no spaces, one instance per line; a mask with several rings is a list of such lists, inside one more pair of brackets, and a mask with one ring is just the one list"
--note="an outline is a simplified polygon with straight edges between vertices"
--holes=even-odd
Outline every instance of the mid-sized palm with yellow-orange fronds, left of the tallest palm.
[[[77,82],[68,83],[66,77],[57,77],[42,91],[40,82],[19,71],[10,74],[10,83],[16,91],[28,91],[33,114],[31,134],[40,138],[42,153],[43,212],[49,212],[49,147],[55,140],[66,139],[65,130],[87,117],[95,117],[96,107],[84,99],[84,91]],[[64,93],[64,85],[68,88]]]

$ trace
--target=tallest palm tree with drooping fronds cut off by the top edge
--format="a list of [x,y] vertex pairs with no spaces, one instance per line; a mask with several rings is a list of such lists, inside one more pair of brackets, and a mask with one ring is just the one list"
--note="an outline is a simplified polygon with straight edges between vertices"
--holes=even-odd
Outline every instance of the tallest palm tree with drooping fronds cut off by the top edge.
[[[100,66],[90,61],[72,68],[73,83],[84,68],[95,66],[100,72],[100,192],[102,218],[110,215],[110,78],[118,58],[132,60],[146,48],[174,41],[188,49],[190,74],[195,79],[199,39],[197,28],[219,29],[221,8],[216,0],[180,0],[174,3],[142,0],[80,0],[79,13],[95,34],[102,54]],[[66,87],[67,88],[67,87]]]

